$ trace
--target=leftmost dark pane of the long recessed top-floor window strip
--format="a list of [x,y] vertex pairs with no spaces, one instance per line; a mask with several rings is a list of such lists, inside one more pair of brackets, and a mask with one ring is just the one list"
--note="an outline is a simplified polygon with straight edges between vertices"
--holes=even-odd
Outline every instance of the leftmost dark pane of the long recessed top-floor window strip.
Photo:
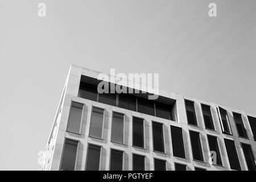
[[97,86],[80,82],[79,97],[92,101],[97,101]]

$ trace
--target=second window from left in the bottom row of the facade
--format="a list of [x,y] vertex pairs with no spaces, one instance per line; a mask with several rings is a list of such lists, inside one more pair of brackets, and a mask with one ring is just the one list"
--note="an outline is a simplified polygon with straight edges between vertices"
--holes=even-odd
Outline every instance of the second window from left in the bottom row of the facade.
[[98,171],[100,169],[101,147],[89,144],[86,162],[86,171]]

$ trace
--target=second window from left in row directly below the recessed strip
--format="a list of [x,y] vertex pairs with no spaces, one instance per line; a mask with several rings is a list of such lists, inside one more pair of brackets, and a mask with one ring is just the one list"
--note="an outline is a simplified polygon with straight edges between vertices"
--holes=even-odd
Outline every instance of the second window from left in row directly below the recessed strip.
[[90,117],[89,137],[102,138],[104,109],[97,107],[92,108],[92,116]]

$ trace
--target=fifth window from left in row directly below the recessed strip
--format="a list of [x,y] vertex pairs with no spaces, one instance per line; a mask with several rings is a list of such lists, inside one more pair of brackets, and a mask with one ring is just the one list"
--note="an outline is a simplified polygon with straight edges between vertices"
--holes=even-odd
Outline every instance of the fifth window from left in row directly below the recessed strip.
[[152,122],[154,151],[164,152],[163,124]]

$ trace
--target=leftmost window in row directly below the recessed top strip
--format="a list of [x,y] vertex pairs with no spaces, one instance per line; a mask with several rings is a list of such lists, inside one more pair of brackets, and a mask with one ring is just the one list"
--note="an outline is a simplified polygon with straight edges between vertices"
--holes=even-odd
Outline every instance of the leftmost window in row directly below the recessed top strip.
[[72,102],[71,109],[69,111],[67,131],[77,134],[80,133],[83,107],[83,104]]

